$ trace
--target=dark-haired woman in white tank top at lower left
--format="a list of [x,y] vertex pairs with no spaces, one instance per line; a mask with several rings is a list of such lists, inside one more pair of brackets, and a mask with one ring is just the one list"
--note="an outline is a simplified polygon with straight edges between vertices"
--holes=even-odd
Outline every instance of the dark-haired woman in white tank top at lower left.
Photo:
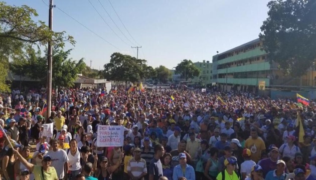
[[80,165],[80,152],[77,147],[76,139],[70,140],[70,148],[66,149],[67,156],[69,158],[69,171],[68,174],[69,179],[74,179],[76,175],[81,172],[81,165]]

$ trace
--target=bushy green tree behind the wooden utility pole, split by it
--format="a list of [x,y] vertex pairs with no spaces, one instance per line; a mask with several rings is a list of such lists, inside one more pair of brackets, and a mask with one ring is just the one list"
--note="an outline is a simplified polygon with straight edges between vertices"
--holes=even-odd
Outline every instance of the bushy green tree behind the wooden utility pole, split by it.
[[[78,61],[69,58],[71,50],[64,51],[58,46],[53,48],[53,87],[72,87],[77,74],[82,73],[86,68],[83,58]],[[46,57],[47,50],[44,56],[42,56],[40,50],[36,52],[31,48],[24,55],[17,56],[17,58],[10,62],[10,68],[20,76],[28,76],[46,82],[48,68]]]

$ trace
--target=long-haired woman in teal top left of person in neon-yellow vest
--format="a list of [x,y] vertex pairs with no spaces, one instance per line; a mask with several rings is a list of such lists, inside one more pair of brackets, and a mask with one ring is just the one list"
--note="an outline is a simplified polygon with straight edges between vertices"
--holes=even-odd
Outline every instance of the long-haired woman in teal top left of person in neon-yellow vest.
[[216,179],[218,174],[218,148],[212,147],[210,149],[211,157],[207,160],[204,168],[204,176],[207,179]]

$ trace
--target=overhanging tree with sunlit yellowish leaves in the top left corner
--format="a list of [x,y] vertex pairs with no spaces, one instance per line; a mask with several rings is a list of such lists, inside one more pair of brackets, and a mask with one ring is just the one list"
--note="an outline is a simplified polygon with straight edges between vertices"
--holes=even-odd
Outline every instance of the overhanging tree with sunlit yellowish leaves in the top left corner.
[[23,55],[30,45],[40,46],[51,41],[63,47],[65,41],[72,44],[75,41],[65,31],[54,32],[45,22],[32,20],[38,13],[29,6],[11,6],[3,1],[0,6],[0,91],[9,91],[10,86],[6,83],[9,59]]

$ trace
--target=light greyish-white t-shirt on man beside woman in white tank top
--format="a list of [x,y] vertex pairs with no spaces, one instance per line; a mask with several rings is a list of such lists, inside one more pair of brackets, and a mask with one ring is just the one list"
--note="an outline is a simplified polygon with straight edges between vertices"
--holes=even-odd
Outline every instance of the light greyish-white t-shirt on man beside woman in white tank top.
[[64,164],[69,160],[66,151],[63,149],[58,149],[57,151],[51,150],[47,152],[47,155],[52,157],[51,166],[55,167],[58,178],[64,178]]

